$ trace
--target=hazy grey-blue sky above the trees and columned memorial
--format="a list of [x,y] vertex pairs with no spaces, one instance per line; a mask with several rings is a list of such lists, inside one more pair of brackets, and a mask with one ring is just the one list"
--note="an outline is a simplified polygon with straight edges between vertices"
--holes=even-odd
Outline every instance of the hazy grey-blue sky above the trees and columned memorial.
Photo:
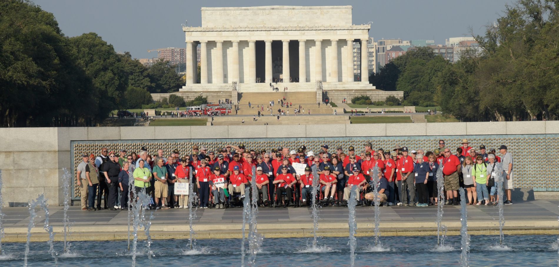
[[201,7],[248,6],[353,6],[353,24],[374,22],[369,36],[377,39],[435,40],[444,44],[449,37],[476,34],[503,14],[513,0],[34,0],[54,13],[67,36],[96,32],[116,51],[130,51],[134,58],[153,58],[148,49],[185,47],[181,23],[200,26]]

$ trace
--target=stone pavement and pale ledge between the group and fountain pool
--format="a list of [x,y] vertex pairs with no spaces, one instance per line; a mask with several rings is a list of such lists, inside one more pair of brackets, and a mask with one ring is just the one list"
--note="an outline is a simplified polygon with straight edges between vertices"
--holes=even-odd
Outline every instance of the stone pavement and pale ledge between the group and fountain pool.
[[[525,201],[504,206],[505,233],[557,234],[559,201]],[[50,207],[50,223],[54,226],[56,240],[63,232],[63,207]],[[460,206],[444,207],[443,223],[449,235],[458,235]],[[356,207],[357,235],[370,236],[374,225],[374,207]],[[3,241],[26,240],[29,209],[3,208],[6,214]],[[42,228],[44,212],[38,212],[32,240],[44,241],[48,235]],[[149,211],[148,213],[149,216]],[[236,238],[241,236],[242,208],[196,209],[193,227],[198,239]],[[127,239],[126,211],[81,211],[70,207],[68,216],[73,222],[70,240],[122,240]],[[473,235],[499,233],[499,210],[496,206],[467,206],[468,231]],[[188,238],[188,209],[168,209],[153,212],[151,235],[154,239]],[[265,237],[305,237],[312,233],[311,209],[259,208],[258,231]],[[347,236],[348,208],[320,208],[319,235]],[[437,206],[430,207],[380,207],[380,229],[383,236],[436,235]],[[248,228],[248,226],[247,226]]]

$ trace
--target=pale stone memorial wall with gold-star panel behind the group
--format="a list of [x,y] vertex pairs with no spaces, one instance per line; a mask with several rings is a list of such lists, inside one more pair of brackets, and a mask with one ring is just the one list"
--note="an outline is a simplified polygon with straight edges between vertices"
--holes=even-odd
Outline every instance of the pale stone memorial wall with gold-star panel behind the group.
[[[75,173],[80,154],[98,154],[102,146],[110,150],[125,147],[150,153],[162,148],[191,151],[194,144],[216,149],[224,144],[243,142],[249,149],[295,148],[302,144],[318,151],[321,144],[349,145],[362,149],[371,141],[375,149],[395,145],[426,150],[444,139],[453,149],[463,138],[471,146],[497,149],[507,145],[515,160],[515,198],[557,198],[559,164],[554,156],[559,149],[559,121],[530,122],[452,122],[452,123],[377,123],[343,125],[254,125],[254,126],[159,126],[159,127],[45,127],[0,128],[0,169],[4,205],[25,206],[30,199],[45,194],[49,204],[63,202],[63,168]],[[499,154],[498,154],[499,155]],[[552,160],[550,160],[550,158]],[[75,175],[74,175],[75,176]],[[79,197],[75,187],[73,198]]]

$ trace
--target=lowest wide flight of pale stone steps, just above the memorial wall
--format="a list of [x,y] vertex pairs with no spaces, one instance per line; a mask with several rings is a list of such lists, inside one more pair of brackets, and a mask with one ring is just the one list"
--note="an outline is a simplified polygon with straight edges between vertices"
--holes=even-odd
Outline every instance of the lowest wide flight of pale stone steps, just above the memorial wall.
[[[242,122],[244,119],[244,123]],[[209,125],[314,125],[314,124],[349,124],[349,116],[263,116],[256,117],[257,121],[253,121],[252,117],[237,116],[221,116],[214,117],[214,121],[208,118]]]

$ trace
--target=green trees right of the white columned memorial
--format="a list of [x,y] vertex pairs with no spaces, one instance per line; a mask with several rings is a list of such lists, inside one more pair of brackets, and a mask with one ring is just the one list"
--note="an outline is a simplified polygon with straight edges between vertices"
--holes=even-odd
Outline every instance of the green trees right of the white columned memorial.
[[519,0],[473,35],[480,50],[450,64],[427,47],[408,51],[369,80],[404,91],[404,104],[438,105],[462,121],[557,120],[559,1]]

